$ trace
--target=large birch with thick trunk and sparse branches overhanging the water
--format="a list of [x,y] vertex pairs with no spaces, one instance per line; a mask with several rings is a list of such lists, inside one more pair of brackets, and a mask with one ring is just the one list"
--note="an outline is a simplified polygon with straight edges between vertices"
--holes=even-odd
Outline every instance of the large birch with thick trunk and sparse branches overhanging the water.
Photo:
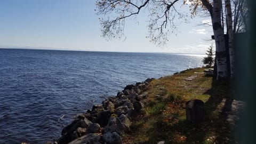
[[227,59],[224,33],[221,25],[221,0],[98,0],[97,14],[102,15],[102,36],[107,38],[122,37],[125,19],[136,17],[142,9],[149,10],[149,38],[155,44],[165,44],[167,35],[176,28],[174,18],[186,18],[186,14],[178,12],[175,6],[191,3],[191,14],[195,15],[198,7],[209,11],[215,37],[217,79],[227,78]]

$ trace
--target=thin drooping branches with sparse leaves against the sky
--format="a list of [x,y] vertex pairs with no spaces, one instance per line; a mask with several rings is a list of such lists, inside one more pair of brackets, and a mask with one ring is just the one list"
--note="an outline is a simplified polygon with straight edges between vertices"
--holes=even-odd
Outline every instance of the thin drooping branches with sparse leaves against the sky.
[[107,39],[123,37],[125,20],[137,17],[143,9],[148,12],[147,37],[154,44],[166,44],[167,35],[177,29],[175,19],[186,20],[188,17],[175,9],[177,5],[183,5],[183,0],[98,0],[96,5],[97,14],[101,16],[102,36]]

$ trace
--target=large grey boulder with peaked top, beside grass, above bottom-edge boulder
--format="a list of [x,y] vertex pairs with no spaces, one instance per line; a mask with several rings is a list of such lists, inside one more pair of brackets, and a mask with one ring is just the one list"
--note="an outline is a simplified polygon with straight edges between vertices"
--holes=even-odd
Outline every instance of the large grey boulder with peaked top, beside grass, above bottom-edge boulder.
[[107,132],[117,132],[119,135],[123,134],[125,130],[125,126],[121,122],[121,120],[118,117],[111,116],[109,118],[108,124],[105,127],[104,133]]

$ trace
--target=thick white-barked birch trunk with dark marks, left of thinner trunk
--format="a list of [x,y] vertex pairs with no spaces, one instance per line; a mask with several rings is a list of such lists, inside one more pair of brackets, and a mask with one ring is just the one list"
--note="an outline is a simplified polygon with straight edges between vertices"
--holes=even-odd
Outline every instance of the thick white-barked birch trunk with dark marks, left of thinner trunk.
[[213,34],[216,46],[216,62],[217,62],[217,80],[226,79],[228,77],[226,46],[224,33],[221,26],[221,0],[213,1],[213,9],[211,13]]

